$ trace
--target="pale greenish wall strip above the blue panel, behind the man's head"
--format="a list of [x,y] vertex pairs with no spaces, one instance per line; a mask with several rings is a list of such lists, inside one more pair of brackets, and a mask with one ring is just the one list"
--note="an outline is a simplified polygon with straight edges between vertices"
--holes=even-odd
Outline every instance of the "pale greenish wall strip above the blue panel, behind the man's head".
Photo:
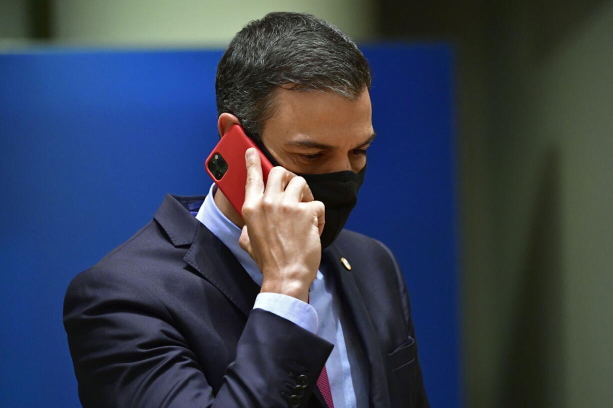
[[357,39],[375,26],[370,0],[60,0],[55,38],[107,45],[224,45],[246,22],[276,11],[310,12]]

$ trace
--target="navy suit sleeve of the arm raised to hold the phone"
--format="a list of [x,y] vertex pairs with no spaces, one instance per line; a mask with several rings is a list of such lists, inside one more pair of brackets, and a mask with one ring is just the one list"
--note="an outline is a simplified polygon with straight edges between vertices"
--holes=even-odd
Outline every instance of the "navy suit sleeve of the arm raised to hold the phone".
[[303,407],[332,350],[310,331],[254,309],[214,393],[158,298],[129,276],[95,269],[70,283],[64,327],[84,408],[285,408],[306,376]]

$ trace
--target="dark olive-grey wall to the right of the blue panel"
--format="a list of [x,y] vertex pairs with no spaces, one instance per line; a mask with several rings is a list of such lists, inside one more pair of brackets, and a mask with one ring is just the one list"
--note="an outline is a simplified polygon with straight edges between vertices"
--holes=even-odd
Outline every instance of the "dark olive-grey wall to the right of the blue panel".
[[612,406],[613,2],[379,7],[457,50],[466,406]]

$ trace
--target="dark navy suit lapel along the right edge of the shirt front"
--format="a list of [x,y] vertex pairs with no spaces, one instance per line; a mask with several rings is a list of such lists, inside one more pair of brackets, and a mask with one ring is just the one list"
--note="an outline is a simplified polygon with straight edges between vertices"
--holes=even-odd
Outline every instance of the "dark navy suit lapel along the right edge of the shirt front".
[[353,265],[351,271],[346,270],[341,266],[340,259],[342,256],[340,248],[332,244],[322,254],[322,268],[330,271],[337,281],[338,294],[349,312],[348,317],[354,322],[362,349],[370,366],[368,376],[369,405],[370,407],[389,407],[389,391],[383,354],[376,338],[370,312],[368,312],[354,278],[354,273],[359,265]]

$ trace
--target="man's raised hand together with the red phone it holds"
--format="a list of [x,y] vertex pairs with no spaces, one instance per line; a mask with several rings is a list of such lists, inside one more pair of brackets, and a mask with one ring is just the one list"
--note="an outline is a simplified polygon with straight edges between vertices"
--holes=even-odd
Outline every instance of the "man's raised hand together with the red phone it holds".
[[205,167],[245,221],[240,246],[264,275],[261,291],[308,301],[325,208],[305,179],[273,167],[238,125],[221,137]]

